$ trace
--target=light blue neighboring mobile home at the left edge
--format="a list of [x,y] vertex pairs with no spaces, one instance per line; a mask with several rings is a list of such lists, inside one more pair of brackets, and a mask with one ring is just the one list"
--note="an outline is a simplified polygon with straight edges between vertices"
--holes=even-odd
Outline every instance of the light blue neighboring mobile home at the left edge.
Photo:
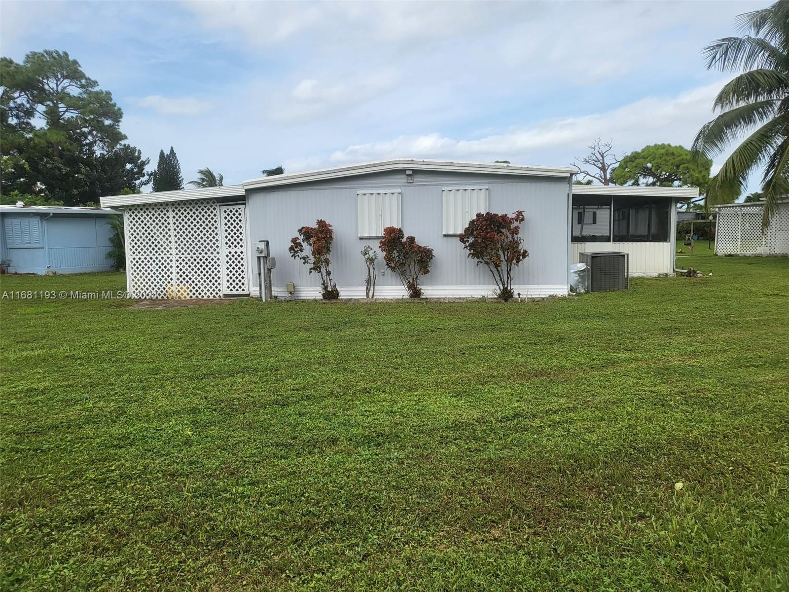
[[0,206],[0,266],[7,273],[106,272],[114,210]]

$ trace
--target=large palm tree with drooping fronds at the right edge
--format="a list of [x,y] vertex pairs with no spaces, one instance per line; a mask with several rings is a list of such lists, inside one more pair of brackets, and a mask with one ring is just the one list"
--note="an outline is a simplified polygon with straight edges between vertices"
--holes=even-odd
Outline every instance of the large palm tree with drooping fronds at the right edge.
[[789,2],[741,14],[742,37],[725,37],[705,47],[707,69],[742,71],[718,93],[713,110],[694,140],[699,155],[713,158],[750,133],[712,178],[707,204],[733,201],[748,176],[762,170],[766,226],[778,200],[789,194]]

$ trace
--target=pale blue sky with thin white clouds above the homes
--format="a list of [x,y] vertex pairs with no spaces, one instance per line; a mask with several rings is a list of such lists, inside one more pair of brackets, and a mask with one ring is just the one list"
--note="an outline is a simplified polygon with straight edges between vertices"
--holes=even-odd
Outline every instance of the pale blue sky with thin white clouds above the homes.
[[4,1],[0,49],[68,51],[187,181],[398,156],[563,166],[596,137],[690,147],[731,77],[701,48],[763,6]]

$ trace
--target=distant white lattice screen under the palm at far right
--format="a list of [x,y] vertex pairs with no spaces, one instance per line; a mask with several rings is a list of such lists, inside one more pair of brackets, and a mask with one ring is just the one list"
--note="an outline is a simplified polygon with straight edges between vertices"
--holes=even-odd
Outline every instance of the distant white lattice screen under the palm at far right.
[[779,204],[766,231],[761,229],[761,204],[718,210],[715,251],[719,255],[776,255],[789,251],[789,204]]

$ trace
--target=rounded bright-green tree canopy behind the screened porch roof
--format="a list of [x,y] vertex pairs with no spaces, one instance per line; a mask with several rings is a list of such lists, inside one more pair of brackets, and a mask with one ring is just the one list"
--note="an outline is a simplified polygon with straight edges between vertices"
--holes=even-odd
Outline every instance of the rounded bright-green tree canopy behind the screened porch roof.
[[617,185],[698,187],[705,193],[712,160],[694,158],[682,146],[651,144],[626,155],[611,178]]

